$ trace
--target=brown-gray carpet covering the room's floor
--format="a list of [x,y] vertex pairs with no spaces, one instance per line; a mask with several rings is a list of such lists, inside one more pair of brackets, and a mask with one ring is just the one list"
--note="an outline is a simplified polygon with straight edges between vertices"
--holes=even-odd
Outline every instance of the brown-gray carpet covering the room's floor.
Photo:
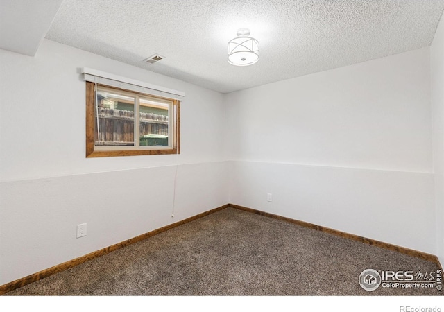
[[223,209],[6,295],[443,295],[359,286],[361,272],[436,264],[237,209]]

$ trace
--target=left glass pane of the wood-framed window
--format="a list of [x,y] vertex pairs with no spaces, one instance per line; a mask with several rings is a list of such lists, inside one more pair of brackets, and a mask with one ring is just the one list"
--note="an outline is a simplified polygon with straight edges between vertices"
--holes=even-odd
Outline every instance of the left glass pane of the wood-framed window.
[[96,146],[134,146],[135,98],[100,90],[96,105]]

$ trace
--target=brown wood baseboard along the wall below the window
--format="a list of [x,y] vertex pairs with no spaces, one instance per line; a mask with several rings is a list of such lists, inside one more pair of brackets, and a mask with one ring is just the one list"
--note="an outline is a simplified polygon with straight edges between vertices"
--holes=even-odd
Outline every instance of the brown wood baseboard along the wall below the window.
[[204,216],[208,216],[209,214],[214,214],[214,212],[221,211],[227,207],[228,207],[228,205],[223,205],[221,207],[217,207],[217,208],[211,209],[209,211],[205,211],[202,214],[198,214],[196,216],[186,218],[185,220],[181,220],[176,223],[172,223],[170,225],[167,225],[165,227],[161,227],[160,229],[155,229],[151,232],[147,232],[145,234],[135,236],[132,239],[127,239],[126,241],[122,241],[120,243],[105,247],[101,250],[96,250],[95,252],[85,254],[85,256],[78,257],[76,259],[67,261],[65,263],[58,264],[57,266],[47,268],[46,270],[42,270],[40,272],[28,275],[27,277],[22,277],[21,279],[11,281],[8,284],[4,284],[4,285],[0,286],[0,295],[8,293],[8,291],[13,291],[14,289],[20,288],[20,287],[25,286],[27,284],[31,284],[34,281],[38,281],[39,279],[49,277],[53,274],[56,274],[58,272],[62,272],[62,271],[67,270],[69,268],[73,268],[74,266],[78,266],[79,264],[85,263],[85,262],[92,260],[94,258],[101,257],[104,254],[109,254],[110,252],[113,252],[113,251],[118,250],[120,248],[126,247],[128,245],[133,244],[133,243],[143,241],[144,239],[148,239],[148,237],[160,234],[160,233],[165,232],[169,229],[173,229],[173,227],[178,227],[179,225],[183,225],[185,223],[189,223],[191,221],[197,220],[197,219],[202,218]]

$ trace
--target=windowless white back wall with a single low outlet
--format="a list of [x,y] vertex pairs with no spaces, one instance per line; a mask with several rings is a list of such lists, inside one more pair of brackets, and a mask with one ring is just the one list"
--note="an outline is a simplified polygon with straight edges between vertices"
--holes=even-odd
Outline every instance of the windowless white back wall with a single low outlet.
[[430,87],[425,48],[228,94],[230,202],[434,254]]

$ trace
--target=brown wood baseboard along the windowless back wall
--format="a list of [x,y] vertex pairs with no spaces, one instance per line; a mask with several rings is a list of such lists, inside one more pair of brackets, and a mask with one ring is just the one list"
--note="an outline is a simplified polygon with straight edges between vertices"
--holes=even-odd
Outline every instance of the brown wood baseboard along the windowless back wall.
[[362,236],[358,236],[358,235],[355,235],[355,234],[341,232],[341,231],[338,231],[337,229],[330,229],[329,227],[323,227],[321,225],[315,225],[315,224],[304,222],[304,221],[300,221],[300,220],[294,220],[294,219],[287,218],[287,217],[284,217],[284,216],[278,216],[277,214],[270,214],[268,212],[264,212],[264,211],[260,211],[260,210],[256,210],[256,209],[252,209],[252,208],[248,208],[248,207],[244,207],[244,206],[228,204],[228,207],[236,208],[236,209],[243,210],[243,211],[248,211],[248,212],[251,212],[253,214],[259,214],[261,216],[267,216],[269,218],[275,218],[275,219],[278,219],[278,220],[287,221],[289,223],[293,223],[293,224],[296,224],[296,225],[301,225],[302,227],[309,227],[310,229],[316,229],[317,231],[330,233],[330,234],[333,234],[333,235],[336,235],[336,236],[341,236],[341,237],[344,237],[345,239],[352,239],[354,241],[360,241],[361,243],[366,243],[368,245],[374,245],[374,246],[377,246],[379,248],[385,248],[385,249],[388,249],[388,250],[393,250],[393,251],[400,252],[402,254],[408,254],[409,256],[417,257],[417,258],[420,258],[420,259],[425,259],[427,261],[431,261],[433,263],[436,263],[438,266],[441,266],[441,264],[438,261],[438,257],[436,257],[434,254],[427,254],[426,252],[420,252],[418,250],[412,250],[412,249],[409,249],[409,248],[404,248],[404,247],[400,247],[400,246],[397,246],[397,245],[392,245],[390,243],[384,243],[382,241],[376,241],[375,239],[367,239],[366,237],[362,237]]

